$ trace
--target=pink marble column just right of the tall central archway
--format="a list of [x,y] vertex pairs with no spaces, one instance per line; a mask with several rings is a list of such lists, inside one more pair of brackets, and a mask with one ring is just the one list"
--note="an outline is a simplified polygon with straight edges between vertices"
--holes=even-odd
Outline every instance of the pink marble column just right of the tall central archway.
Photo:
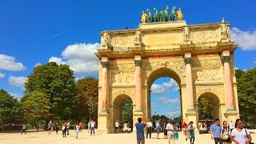
[[194,110],[194,96],[193,96],[193,79],[192,79],[192,58],[184,58],[186,63],[186,91],[188,100],[188,109]]

